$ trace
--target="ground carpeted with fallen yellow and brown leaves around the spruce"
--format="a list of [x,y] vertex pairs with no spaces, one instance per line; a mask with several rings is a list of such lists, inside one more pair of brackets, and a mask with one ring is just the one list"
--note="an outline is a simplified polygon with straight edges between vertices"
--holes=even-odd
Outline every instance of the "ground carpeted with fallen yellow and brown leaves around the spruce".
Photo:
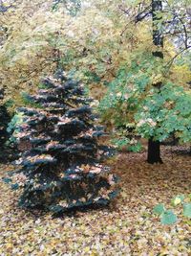
[[[191,255],[191,221],[181,216],[171,226],[152,214],[162,202],[191,192],[191,157],[180,148],[162,147],[164,164],[149,165],[146,153],[120,153],[109,163],[120,176],[120,195],[104,209],[53,219],[25,212],[18,195],[0,183],[0,255],[164,256]],[[0,166],[0,177],[8,166]]]

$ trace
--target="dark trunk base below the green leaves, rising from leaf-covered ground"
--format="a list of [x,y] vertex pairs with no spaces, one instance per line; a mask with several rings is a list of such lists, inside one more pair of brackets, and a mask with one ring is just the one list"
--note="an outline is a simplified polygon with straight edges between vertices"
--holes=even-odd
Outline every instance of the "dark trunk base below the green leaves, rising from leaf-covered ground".
[[162,163],[161,157],[160,157],[160,143],[159,141],[154,141],[153,138],[149,139],[148,142],[148,157],[147,162],[150,164],[154,163]]

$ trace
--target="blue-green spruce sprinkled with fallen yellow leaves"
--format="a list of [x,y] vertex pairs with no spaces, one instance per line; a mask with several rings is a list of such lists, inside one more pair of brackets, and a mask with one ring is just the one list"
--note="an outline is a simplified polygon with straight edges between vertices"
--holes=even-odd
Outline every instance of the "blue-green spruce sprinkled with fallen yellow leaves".
[[109,151],[99,146],[103,128],[79,82],[60,75],[47,78],[32,107],[20,107],[24,123],[15,135],[28,150],[16,161],[12,187],[23,188],[19,205],[58,213],[77,206],[107,204],[115,198],[117,177],[99,164]]

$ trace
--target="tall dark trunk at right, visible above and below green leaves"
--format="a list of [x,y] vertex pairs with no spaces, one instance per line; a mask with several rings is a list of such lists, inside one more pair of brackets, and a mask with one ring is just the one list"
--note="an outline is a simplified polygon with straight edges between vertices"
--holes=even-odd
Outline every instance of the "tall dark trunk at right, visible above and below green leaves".
[[[161,51],[161,48],[163,47],[163,35],[158,26],[158,21],[161,19],[160,16],[158,16],[158,12],[162,12],[162,1],[152,0],[153,43],[159,47],[157,51],[153,52],[153,56],[156,58],[163,58],[163,53]],[[161,82],[155,84],[158,88],[160,88],[161,85]],[[153,137],[148,141],[147,162],[150,164],[162,163],[160,157],[160,143],[159,141],[154,141]]]

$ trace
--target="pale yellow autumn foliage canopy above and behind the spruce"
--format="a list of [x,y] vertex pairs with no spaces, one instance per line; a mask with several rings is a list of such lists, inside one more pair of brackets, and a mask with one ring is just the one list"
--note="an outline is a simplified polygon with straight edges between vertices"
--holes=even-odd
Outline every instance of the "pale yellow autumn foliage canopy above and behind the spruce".
[[[151,21],[135,24],[136,8],[127,16],[120,11],[119,0],[84,1],[74,17],[63,8],[53,12],[51,0],[16,3],[0,17],[8,30],[0,50],[0,80],[7,87],[7,99],[17,104],[20,92],[35,90],[40,78],[60,65],[66,70],[74,68],[75,76],[83,81],[87,71],[96,73],[101,80],[93,81],[91,87],[99,98],[103,81],[112,81],[118,68],[132,57],[146,56],[154,49]],[[175,47],[165,39],[164,49],[168,63],[176,55]],[[183,86],[191,79],[188,66],[174,63],[166,76]]]

